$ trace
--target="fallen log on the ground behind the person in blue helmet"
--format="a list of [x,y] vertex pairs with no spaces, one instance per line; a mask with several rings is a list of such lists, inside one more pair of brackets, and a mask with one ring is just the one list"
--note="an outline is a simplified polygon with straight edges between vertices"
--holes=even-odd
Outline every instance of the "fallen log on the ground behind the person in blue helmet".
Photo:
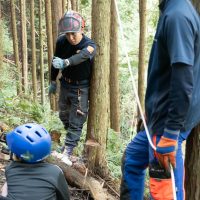
[[107,188],[103,187],[103,183],[91,176],[88,176],[87,169],[85,170],[85,174],[83,174],[83,171],[79,172],[75,165],[68,166],[56,156],[51,156],[47,161],[58,165],[63,170],[69,185],[89,191],[94,200],[118,199],[117,196],[111,195]]

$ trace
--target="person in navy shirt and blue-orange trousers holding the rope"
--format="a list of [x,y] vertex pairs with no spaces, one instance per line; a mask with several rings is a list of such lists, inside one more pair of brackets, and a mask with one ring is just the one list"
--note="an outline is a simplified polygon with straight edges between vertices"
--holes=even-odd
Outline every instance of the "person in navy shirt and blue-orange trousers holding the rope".
[[188,0],[162,0],[152,46],[145,114],[154,151],[145,130],[128,144],[122,161],[122,200],[142,200],[149,167],[152,199],[172,200],[170,166],[177,200],[184,197],[181,144],[200,122],[200,18]]

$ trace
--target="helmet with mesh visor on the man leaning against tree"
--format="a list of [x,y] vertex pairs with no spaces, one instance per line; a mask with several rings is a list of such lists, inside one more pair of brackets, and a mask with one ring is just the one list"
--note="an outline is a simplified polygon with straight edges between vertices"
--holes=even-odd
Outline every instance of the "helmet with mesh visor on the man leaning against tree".
[[59,34],[77,33],[83,30],[85,21],[83,17],[76,11],[68,11],[60,19],[58,24]]

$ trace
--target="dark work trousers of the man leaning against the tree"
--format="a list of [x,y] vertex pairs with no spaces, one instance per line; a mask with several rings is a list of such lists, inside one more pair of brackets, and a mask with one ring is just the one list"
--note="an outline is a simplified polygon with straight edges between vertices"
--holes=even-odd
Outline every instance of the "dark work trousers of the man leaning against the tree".
[[[77,146],[88,115],[89,87],[62,86],[59,96],[59,117],[67,131],[66,146]],[[78,112],[77,112],[78,111]],[[81,111],[81,112],[79,112]]]

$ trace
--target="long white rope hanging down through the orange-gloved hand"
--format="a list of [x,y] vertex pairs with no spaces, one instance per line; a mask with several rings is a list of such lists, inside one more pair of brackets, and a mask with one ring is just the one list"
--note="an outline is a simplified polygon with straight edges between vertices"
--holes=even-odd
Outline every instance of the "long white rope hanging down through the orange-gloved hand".
[[[127,59],[127,63],[128,63],[128,69],[129,69],[130,76],[131,76],[131,83],[132,83],[132,87],[133,87],[133,95],[136,98],[137,106],[139,108],[139,112],[140,112],[140,115],[142,117],[142,121],[143,121],[143,124],[144,124],[145,132],[146,132],[149,144],[156,151],[156,147],[154,146],[154,144],[151,141],[150,133],[149,133],[149,130],[148,130],[148,127],[147,127],[147,123],[146,123],[146,120],[145,120],[145,117],[144,117],[144,114],[143,114],[142,106],[141,106],[140,99],[139,99],[139,96],[138,96],[138,92],[137,92],[137,89],[136,89],[135,80],[134,80],[134,76],[133,76],[133,72],[132,72],[132,67],[131,67],[129,56],[128,56],[128,51],[127,51],[127,48],[126,48],[126,40],[125,40],[125,37],[124,37],[124,31],[123,31],[123,27],[122,27],[122,23],[121,23],[121,18],[120,18],[120,15],[119,15],[117,0],[114,0],[114,2],[115,2],[115,8],[116,8],[116,14],[117,14],[117,18],[118,18],[120,33],[121,33],[121,37],[122,37],[123,45],[124,45],[123,50],[124,50],[125,55],[126,55],[126,59]],[[174,172],[173,172],[172,166],[170,166],[170,167],[171,167],[173,196],[174,196],[174,200],[177,200]]]

